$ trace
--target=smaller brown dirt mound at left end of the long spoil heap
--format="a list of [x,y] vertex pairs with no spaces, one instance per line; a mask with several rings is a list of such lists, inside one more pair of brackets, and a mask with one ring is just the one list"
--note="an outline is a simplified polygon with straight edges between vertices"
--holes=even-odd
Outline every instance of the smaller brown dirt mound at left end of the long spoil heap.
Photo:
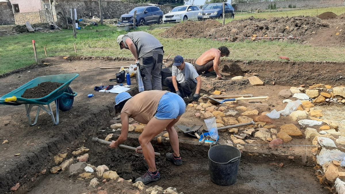
[[193,38],[203,37],[203,29],[205,32],[211,29],[221,27],[221,23],[216,20],[202,21],[186,21],[169,28],[161,34],[165,38]]

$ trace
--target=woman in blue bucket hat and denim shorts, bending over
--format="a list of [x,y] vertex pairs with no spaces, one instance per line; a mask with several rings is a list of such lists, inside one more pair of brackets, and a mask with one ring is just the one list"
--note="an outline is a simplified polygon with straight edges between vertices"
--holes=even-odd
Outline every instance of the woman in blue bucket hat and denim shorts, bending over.
[[116,113],[120,113],[122,127],[121,135],[116,141],[111,142],[110,148],[117,148],[127,140],[129,118],[147,124],[139,136],[140,146],[136,151],[138,153],[142,151],[149,169],[135,182],[141,181],[148,184],[159,180],[160,174],[156,169],[155,150],[151,145],[151,140],[164,129],[169,134],[170,144],[174,151],[174,153],[167,153],[166,158],[177,166],[182,164],[174,124],[185,113],[186,103],[179,95],[169,91],[150,90],[132,97],[129,93],[122,92],[115,97],[115,103],[114,109]]

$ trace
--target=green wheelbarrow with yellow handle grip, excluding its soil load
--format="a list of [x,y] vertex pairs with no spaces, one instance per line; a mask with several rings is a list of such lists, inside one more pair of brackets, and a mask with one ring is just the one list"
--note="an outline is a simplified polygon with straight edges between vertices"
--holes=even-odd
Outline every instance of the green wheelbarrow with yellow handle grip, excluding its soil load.
[[[0,97],[0,104],[12,106],[24,104],[26,109],[26,116],[28,117],[29,124],[31,126],[36,125],[38,115],[42,108],[46,113],[50,115],[53,124],[57,125],[59,124],[59,109],[61,111],[67,111],[71,109],[74,97],[78,94],[77,92],[73,92],[72,89],[69,87],[73,79],[77,78],[78,76],[79,74],[60,74],[37,77],[29,81],[28,83],[20,86],[19,88],[11,91],[10,93]],[[63,85],[42,98],[28,99],[21,97],[26,89],[33,88],[38,84],[46,81],[63,83]],[[50,106],[50,103],[52,103],[53,101],[55,101],[56,104],[56,119]],[[44,105],[47,105],[48,108],[46,108]],[[30,118],[30,112],[32,107],[34,106],[38,106],[38,108],[35,120],[32,123]]]

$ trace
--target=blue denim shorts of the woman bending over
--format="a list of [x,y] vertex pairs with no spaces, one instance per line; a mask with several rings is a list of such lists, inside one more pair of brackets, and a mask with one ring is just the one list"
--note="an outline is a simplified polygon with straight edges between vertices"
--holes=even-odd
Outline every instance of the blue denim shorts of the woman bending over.
[[176,119],[186,111],[186,103],[183,99],[172,92],[165,93],[159,100],[156,119]]

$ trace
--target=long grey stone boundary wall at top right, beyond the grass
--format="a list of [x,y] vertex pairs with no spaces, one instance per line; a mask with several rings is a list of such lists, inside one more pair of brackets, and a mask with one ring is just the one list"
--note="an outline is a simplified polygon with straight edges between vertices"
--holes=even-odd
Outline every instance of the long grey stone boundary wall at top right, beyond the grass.
[[[296,8],[319,8],[319,7],[336,7],[345,6],[344,0],[293,0],[293,1],[276,1],[277,8],[288,8],[289,5]],[[237,3],[233,4],[235,11],[248,11],[257,9],[268,9],[269,2],[258,3]]]

